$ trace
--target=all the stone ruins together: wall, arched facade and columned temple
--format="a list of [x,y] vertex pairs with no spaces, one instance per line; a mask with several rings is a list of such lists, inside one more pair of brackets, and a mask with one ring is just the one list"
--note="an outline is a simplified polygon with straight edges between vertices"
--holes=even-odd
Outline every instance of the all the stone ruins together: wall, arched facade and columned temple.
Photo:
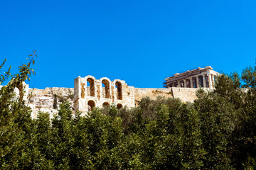
[[[87,76],[76,78],[74,88],[31,89],[28,84],[23,83],[15,91],[17,98],[23,98],[31,107],[32,118],[36,118],[38,111],[49,113],[50,118],[53,118],[53,115],[58,113],[62,101],[69,101],[74,113],[81,111],[82,115],[86,115],[94,107],[115,105],[117,108],[131,108],[137,106],[146,96],[151,99],[180,98],[183,102],[193,102],[198,87],[203,87],[204,90],[213,88],[216,75],[218,72],[208,66],[166,78],[164,83],[166,88],[134,88],[123,80],[110,81],[107,77],[95,79]],[[25,91],[23,92],[22,89]]]

